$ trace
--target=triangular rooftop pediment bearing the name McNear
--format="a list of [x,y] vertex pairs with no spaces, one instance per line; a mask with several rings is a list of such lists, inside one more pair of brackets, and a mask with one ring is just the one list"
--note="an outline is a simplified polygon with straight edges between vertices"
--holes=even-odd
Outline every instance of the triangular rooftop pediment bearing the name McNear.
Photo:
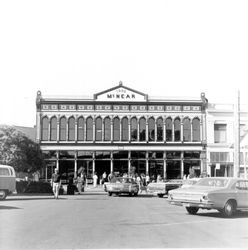
[[140,102],[147,101],[147,95],[136,90],[123,86],[122,82],[118,86],[102,91],[94,95],[97,101],[111,102]]

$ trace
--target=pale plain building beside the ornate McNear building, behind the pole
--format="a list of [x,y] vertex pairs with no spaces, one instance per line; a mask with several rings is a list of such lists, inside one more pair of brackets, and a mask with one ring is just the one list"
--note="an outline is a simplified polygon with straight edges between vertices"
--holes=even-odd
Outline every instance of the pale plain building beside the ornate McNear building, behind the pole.
[[[241,105],[239,126],[235,116],[234,104],[208,103],[207,121],[207,172],[210,176],[247,176],[247,133],[248,109]],[[235,149],[235,136],[240,136],[240,147]],[[236,152],[235,152],[236,150]],[[239,167],[235,170],[235,154],[239,154]]]

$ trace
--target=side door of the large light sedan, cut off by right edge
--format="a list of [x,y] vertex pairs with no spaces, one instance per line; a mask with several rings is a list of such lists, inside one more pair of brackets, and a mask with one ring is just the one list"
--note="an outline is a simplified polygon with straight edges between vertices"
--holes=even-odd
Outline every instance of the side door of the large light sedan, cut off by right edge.
[[236,197],[239,208],[248,209],[248,181],[239,180],[235,185]]

